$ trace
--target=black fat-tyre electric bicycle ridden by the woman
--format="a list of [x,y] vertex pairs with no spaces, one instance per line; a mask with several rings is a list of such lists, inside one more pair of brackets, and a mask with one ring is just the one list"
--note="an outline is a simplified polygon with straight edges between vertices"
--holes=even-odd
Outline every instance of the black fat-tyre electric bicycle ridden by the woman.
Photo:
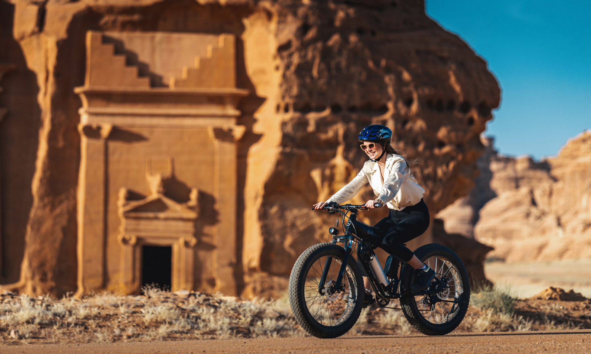
[[[470,281],[462,260],[452,249],[430,243],[414,251],[435,270],[436,277],[424,291],[412,293],[414,269],[410,265],[390,255],[382,269],[374,252],[377,245],[372,243],[378,238],[376,230],[357,220],[358,210],[368,210],[364,204],[329,203],[312,209],[326,210],[331,215],[339,212],[342,219],[337,217],[329,229],[333,240],[306,249],[291,270],[290,306],[304,330],[315,337],[335,338],[353,327],[362,308],[368,306],[364,304],[365,288],[359,267],[371,282],[375,302],[381,307],[402,310],[419,332],[437,336],[459,326],[470,302]],[[344,235],[339,236],[339,224]],[[351,256],[355,248],[357,261]],[[400,299],[401,308],[388,307],[393,299]]]

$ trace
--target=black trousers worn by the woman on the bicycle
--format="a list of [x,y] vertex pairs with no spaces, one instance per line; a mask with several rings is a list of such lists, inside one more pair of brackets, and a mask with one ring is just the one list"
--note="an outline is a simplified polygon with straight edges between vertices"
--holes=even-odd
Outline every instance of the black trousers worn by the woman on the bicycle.
[[388,216],[374,225],[382,236],[381,244],[376,243],[376,246],[408,262],[413,258],[413,251],[402,243],[423,235],[428,227],[429,209],[423,199],[401,211],[390,209]]

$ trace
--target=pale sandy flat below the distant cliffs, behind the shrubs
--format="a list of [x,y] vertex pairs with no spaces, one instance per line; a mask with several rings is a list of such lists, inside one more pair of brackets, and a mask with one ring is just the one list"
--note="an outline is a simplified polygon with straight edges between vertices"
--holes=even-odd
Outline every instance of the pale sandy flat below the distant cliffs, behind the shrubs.
[[591,258],[548,262],[485,264],[485,274],[498,285],[509,285],[516,297],[525,298],[553,287],[574,289],[591,298]]

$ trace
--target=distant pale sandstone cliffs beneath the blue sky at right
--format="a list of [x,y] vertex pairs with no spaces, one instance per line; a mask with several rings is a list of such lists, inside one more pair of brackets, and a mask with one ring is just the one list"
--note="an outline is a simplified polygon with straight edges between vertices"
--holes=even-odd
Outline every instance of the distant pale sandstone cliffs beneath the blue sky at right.
[[[484,178],[468,197],[439,216],[455,229],[473,230],[478,241],[506,261],[582,258],[591,255],[591,131],[570,139],[556,157],[483,155]],[[480,194],[488,191],[488,194]],[[491,193],[492,192],[492,193]],[[491,196],[493,196],[491,198]],[[486,204],[478,202],[488,199]],[[466,221],[467,220],[467,221]],[[467,232],[469,233],[469,232]]]

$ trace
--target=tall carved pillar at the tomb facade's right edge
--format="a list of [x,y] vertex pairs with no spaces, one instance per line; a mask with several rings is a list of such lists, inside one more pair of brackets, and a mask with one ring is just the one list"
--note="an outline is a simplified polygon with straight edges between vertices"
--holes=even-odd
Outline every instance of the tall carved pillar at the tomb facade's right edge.
[[216,142],[215,181],[217,210],[226,215],[225,222],[217,225],[217,275],[220,291],[225,294],[236,293],[234,268],[236,267],[236,200],[237,192],[237,156],[236,141],[242,138],[244,126],[209,128],[212,139]]

